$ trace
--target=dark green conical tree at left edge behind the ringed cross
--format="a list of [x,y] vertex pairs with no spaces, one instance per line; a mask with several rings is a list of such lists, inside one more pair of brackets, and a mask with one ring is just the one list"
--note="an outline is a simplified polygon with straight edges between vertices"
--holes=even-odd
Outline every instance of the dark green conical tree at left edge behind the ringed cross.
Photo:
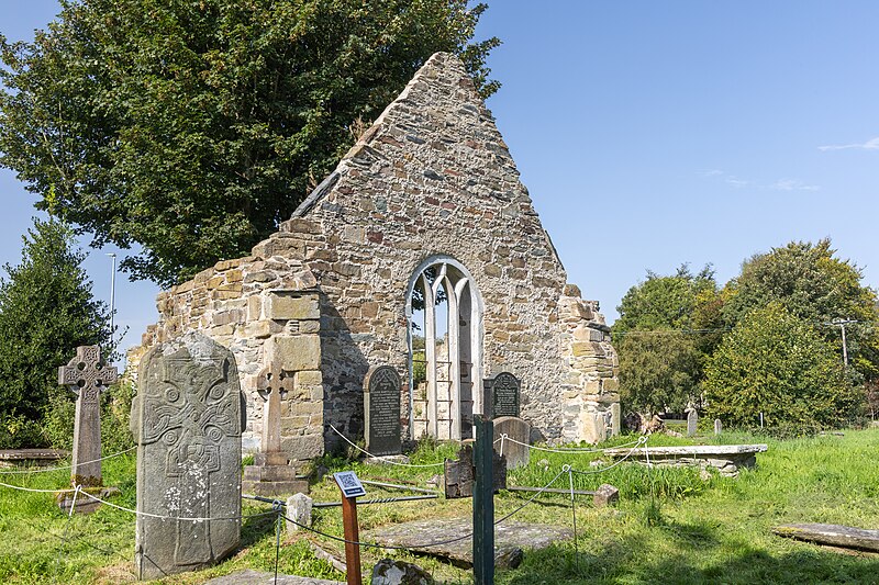
[[[0,425],[41,420],[58,386],[58,365],[77,346],[109,349],[109,314],[91,294],[70,227],[34,220],[21,263],[0,278]],[[65,395],[66,397],[66,395]],[[0,432],[2,435],[2,432]]]

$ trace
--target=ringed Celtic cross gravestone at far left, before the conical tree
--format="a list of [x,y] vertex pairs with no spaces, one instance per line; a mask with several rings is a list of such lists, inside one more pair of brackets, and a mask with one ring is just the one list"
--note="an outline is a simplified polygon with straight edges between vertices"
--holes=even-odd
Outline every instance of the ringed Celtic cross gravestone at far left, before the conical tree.
[[101,393],[115,383],[116,369],[101,361],[99,346],[80,346],[67,365],[58,368],[58,384],[76,394],[74,485],[101,485]]

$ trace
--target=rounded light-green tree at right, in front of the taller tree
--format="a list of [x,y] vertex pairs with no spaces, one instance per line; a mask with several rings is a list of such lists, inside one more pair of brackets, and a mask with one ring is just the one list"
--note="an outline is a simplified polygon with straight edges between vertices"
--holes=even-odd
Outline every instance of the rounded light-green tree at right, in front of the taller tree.
[[708,413],[732,426],[839,426],[864,406],[833,346],[778,301],[736,324],[706,374]]

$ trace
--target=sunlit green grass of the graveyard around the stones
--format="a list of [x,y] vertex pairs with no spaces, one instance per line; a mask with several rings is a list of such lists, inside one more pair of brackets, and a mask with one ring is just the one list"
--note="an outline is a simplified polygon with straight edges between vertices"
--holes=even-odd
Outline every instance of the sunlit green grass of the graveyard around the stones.
[[[620,438],[608,446],[631,441]],[[575,476],[578,488],[610,483],[621,500],[612,508],[593,508],[591,498],[577,502],[578,540],[526,553],[516,570],[499,571],[499,584],[559,583],[876,583],[879,558],[834,551],[772,536],[785,522],[843,524],[879,528],[879,429],[848,430],[804,439],[775,440],[744,434],[705,436],[697,441],[716,443],[767,442],[758,466],[738,479],[700,477],[698,471],[654,470],[624,463],[604,473]],[[650,446],[689,445],[693,441],[654,436]],[[449,446],[425,445],[413,463],[441,461]],[[531,464],[510,474],[514,485],[542,486],[564,463],[591,470],[594,454],[532,451]],[[356,469],[367,479],[393,479],[424,487],[435,473],[421,469],[374,466],[343,459],[318,463],[329,471]],[[120,487],[112,502],[135,505],[134,458],[123,455],[104,464],[108,485]],[[66,472],[4,474],[3,483],[31,488],[63,487]],[[567,487],[567,474],[554,487]],[[400,495],[369,487],[370,496]],[[653,491],[653,496],[652,496]],[[496,498],[497,517],[515,509],[527,494],[502,493]],[[329,479],[312,485],[315,500],[337,499]],[[245,514],[270,509],[246,502]],[[360,529],[387,522],[470,514],[469,499],[422,500],[361,506]],[[527,520],[571,525],[569,497],[545,495],[515,515]],[[315,528],[341,536],[340,508],[316,510]],[[344,575],[316,560],[310,541],[344,559],[340,543],[316,535],[289,538],[282,532],[279,570],[282,573],[344,580]],[[0,582],[2,583],[119,583],[131,574],[134,517],[104,506],[91,516],[68,519],[52,495],[12,491],[0,486]],[[233,571],[253,567],[271,572],[275,563],[275,521],[271,517],[244,521],[241,551],[213,569],[177,575],[167,583],[202,583]],[[575,552],[576,550],[576,552]],[[427,558],[399,554],[424,566],[448,583],[469,583],[470,573]],[[364,549],[364,569],[377,559]]]

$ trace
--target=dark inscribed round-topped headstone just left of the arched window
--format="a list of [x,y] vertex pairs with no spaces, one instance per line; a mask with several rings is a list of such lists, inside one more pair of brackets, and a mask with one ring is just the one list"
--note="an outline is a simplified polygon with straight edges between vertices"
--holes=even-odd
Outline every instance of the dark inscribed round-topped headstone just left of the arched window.
[[374,455],[396,455],[400,439],[400,374],[390,365],[370,368],[364,380],[366,450]]

